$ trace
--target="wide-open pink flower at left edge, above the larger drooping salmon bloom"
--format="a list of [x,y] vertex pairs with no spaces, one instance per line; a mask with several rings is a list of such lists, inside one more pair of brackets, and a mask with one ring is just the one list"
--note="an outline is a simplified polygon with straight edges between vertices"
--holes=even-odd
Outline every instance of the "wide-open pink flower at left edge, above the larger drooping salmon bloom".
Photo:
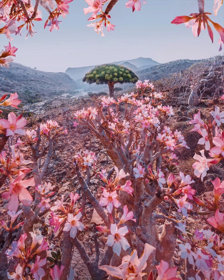
[[25,130],[22,128],[25,127],[26,123],[27,121],[22,118],[22,114],[16,117],[13,112],[8,114],[8,120],[0,119],[0,126],[6,129],[6,136],[14,136],[15,133],[25,136]]

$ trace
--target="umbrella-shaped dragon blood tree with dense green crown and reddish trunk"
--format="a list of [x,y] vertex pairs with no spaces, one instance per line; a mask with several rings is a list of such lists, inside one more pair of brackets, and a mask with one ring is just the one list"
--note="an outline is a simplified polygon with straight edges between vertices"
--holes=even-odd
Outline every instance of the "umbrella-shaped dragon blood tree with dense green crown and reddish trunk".
[[110,97],[114,96],[114,85],[116,83],[135,83],[138,77],[130,69],[116,64],[104,64],[96,66],[85,74],[83,82],[97,85],[108,84]]

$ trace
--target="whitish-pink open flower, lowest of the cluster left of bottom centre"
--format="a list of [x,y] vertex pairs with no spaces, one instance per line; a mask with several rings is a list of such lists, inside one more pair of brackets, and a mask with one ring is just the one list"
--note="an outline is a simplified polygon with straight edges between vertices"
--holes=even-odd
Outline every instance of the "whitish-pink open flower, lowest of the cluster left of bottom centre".
[[75,216],[71,213],[68,213],[68,222],[65,224],[63,231],[70,230],[70,236],[72,238],[76,237],[77,229],[80,231],[84,229],[84,225],[79,221],[81,216],[82,214],[80,212]]

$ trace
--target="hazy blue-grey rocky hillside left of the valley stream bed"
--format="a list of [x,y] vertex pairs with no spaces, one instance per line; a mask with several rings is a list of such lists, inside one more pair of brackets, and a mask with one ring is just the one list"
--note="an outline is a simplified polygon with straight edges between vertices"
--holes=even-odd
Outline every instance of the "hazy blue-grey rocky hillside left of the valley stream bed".
[[0,94],[19,94],[23,104],[32,104],[62,94],[76,94],[77,84],[65,73],[50,73],[18,63],[0,67]]

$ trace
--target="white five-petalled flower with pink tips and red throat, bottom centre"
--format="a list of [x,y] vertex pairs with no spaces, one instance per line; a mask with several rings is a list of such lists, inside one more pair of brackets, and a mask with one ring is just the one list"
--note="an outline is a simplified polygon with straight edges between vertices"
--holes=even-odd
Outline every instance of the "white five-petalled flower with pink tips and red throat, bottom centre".
[[120,256],[121,248],[123,248],[124,251],[126,251],[130,245],[127,241],[127,239],[124,237],[125,234],[129,232],[127,226],[120,227],[118,229],[116,224],[111,224],[110,226],[110,233],[108,235],[107,245],[113,246],[113,252],[116,253],[118,256]]

